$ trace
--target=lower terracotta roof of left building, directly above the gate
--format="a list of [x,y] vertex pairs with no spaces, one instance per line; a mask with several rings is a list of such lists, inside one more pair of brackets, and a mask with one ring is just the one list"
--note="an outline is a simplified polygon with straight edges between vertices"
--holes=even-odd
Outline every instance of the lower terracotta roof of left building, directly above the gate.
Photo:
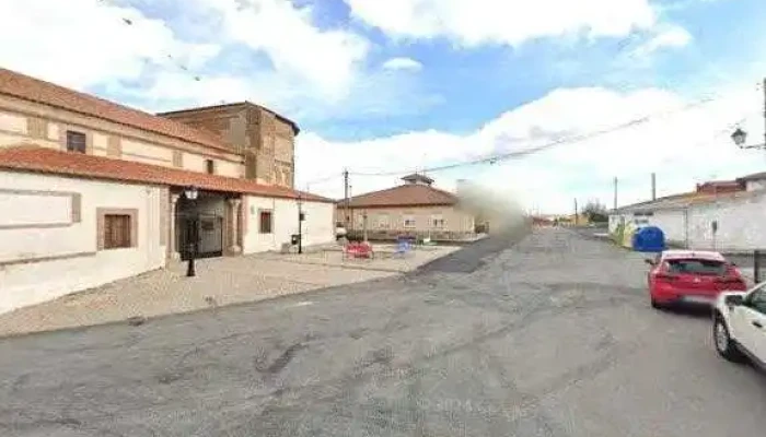
[[172,187],[197,186],[201,190],[236,192],[268,198],[297,199],[334,203],[332,199],[285,187],[259,185],[205,173],[187,172],[158,165],[132,163],[102,156],[60,152],[35,144],[0,149],[0,169],[38,172],[83,178],[118,180]]

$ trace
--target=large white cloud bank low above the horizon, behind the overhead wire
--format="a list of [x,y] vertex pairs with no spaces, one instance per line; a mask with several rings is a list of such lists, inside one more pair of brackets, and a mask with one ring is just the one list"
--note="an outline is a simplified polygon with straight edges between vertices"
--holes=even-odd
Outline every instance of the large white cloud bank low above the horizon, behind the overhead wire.
[[[700,105],[660,90],[558,90],[465,135],[422,131],[333,143],[305,133],[299,137],[297,175],[305,187],[305,181],[325,177],[327,172],[339,175],[343,167],[362,173],[423,168],[496,151],[524,150],[650,116],[650,121],[522,160],[431,175],[448,189],[456,178],[472,178],[543,212],[568,212],[576,197],[581,202],[597,198],[611,206],[612,180],[618,176],[620,204],[627,204],[648,198],[651,173],[658,175],[659,193],[670,194],[690,190],[696,181],[713,174],[728,178],[761,170],[763,160],[736,150],[729,139],[732,123],[745,115],[752,137],[759,138],[758,102],[752,86]],[[352,176],[353,191],[390,187],[397,177]],[[339,178],[310,188],[326,196],[343,194]]]

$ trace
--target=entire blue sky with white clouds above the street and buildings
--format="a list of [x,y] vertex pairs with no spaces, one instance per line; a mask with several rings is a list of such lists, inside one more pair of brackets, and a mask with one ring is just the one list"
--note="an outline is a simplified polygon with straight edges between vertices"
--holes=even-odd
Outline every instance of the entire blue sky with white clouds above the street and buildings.
[[[404,173],[672,113],[431,174],[561,212],[611,202],[614,176],[625,204],[652,172],[672,193],[763,170],[727,138],[764,129],[763,23],[758,0],[28,0],[0,4],[0,37],[19,42],[0,66],[149,111],[263,104],[301,126],[299,185],[327,196],[344,167]],[[357,192],[396,182],[353,180]]]

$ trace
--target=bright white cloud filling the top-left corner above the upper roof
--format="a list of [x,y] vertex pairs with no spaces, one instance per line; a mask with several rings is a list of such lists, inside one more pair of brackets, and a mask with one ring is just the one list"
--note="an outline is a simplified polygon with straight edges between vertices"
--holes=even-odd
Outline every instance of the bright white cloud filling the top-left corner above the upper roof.
[[97,0],[2,1],[0,40],[0,64],[79,90],[135,80],[147,64],[200,66],[220,49],[179,40],[162,21]]

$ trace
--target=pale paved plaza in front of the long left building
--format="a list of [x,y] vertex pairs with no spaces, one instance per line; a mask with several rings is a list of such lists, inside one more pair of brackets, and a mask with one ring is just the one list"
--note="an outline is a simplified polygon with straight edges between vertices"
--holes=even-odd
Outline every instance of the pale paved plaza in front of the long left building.
[[457,248],[418,249],[404,258],[343,260],[339,251],[304,255],[257,253],[186,263],[62,296],[0,315],[0,336],[156,317],[280,295],[390,277],[416,269]]

